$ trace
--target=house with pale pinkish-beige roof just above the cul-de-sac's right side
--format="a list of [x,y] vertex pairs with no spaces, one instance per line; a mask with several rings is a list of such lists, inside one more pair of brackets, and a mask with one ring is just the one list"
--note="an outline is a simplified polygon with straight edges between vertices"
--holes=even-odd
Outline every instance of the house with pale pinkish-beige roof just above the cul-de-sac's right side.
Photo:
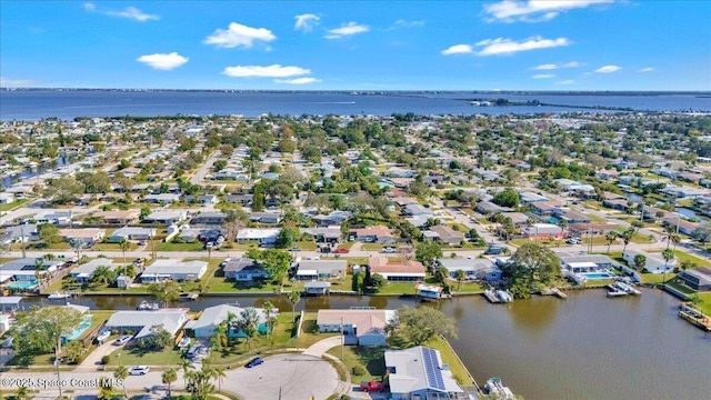
[[321,333],[342,331],[347,344],[387,346],[385,326],[394,318],[394,310],[319,310],[316,323]]

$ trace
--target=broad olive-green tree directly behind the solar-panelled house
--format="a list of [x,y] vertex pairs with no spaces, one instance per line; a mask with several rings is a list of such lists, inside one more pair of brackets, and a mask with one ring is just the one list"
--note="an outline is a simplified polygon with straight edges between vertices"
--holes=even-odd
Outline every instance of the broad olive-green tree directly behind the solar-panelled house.
[[[455,339],[454,321],[442,311],[431,307],[403,307],[395,312],[395,318],[385,326],[391,340],[400,340],[403,344],[421,346],[439,336]],[[393,340],[393,341],[394,341]]]

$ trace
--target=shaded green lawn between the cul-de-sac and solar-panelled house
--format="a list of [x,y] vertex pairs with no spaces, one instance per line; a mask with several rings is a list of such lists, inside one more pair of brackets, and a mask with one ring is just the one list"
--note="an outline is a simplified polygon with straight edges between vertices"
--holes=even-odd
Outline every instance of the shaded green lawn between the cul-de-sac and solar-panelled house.
[[[351,373],[351,382],[360,383],[361,381],[382,381],[385,373],[385,348],[382,347],[363,347],[363,346],[344,346],[334,347],[328,351],[329,354],[339,358]],[[356,374],[353,368],[362,372]]]

